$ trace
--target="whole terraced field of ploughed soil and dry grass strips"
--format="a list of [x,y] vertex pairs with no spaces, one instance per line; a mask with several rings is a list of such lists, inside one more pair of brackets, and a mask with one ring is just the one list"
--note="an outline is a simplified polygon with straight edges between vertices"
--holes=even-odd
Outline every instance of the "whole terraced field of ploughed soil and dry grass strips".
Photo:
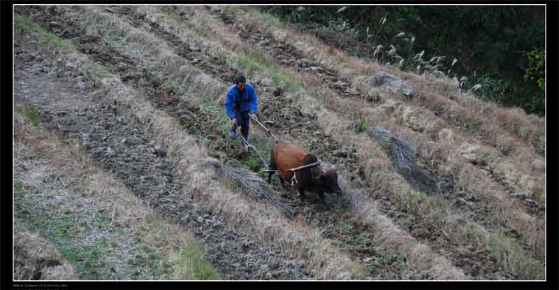
[[[14,71],[17,280],[545,279],[544,119],[451,80],[235,6],[17,6]],[[239,73],[276,136],[337,168],[330,211],[228,139]]]

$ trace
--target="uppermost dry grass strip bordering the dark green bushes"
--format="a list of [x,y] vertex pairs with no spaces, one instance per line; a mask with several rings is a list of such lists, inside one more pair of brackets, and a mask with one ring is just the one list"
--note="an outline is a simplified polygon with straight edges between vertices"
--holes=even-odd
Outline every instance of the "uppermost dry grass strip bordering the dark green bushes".
[[[544,154],[544,119],[542,117],[528,116],[522,110],[501,108],[493,103],[479,101],[471,95],[457,94],[457,84],[449,80],[437,80],[429,76],[426,79],[412,73],[403,73],[396,68],[386,68],[357,57],[350,57],[344,52],[322,43],[314,36],[300,34],[296,29],[289,27],[289,24],[279,22],[276,17],[263,15],[252,8],[235,6],[224,6],[224,8],[229,14],[240,17],[245,27],[256,25],[267,29],[275,38],[285,40],[308,55],[319,57],[326,66],[339,71],[342,78],[351,80],[349,83],[352,83],[356,89],[363,89],[363,94],[368,93],[368,88],[362,86],[365,83],[363,77],[366,79],[368,75],[382,69],[412,82],[412,87],[421,96],[419,98],[421,102],[417,104],[426,106],[434,113],[449,119],[449,122],[467,124],[467,129],[479,131],[488,142],[498,141],[496,136],[490,136],[490,133],[505,133],[507,140],[515,140],[513,136],[516,135],[532,145],[539,154]],[[486,120],[492,122],[486,122]],[[497,127],[493,127],[492,124]],[[523,150],[523,147],[515,147],[515,150]]]

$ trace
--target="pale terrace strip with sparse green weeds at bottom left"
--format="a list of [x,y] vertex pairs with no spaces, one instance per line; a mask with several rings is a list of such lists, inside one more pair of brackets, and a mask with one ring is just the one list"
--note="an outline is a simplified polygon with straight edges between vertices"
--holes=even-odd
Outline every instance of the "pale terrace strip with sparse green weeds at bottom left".
[[168,230],[160,226],[164,221],[154,214],[146,215],[127,254],[115,249],[115,239],[123,238],[126,229],[112,225],[111,219],[101,212],[55,202],[52,188],[69,183],[45,180],[44,184],[26,186],[15,180],[14,214],[27,229],[52,242],[80,279],[106,279],[115,269],[129,272],[125,275],[133,280],[169,279],[171,275],[180,280],[219,279],[196,240],[189,240],[173,261],[161,249],[147,245],[144,239],[169,240]]

